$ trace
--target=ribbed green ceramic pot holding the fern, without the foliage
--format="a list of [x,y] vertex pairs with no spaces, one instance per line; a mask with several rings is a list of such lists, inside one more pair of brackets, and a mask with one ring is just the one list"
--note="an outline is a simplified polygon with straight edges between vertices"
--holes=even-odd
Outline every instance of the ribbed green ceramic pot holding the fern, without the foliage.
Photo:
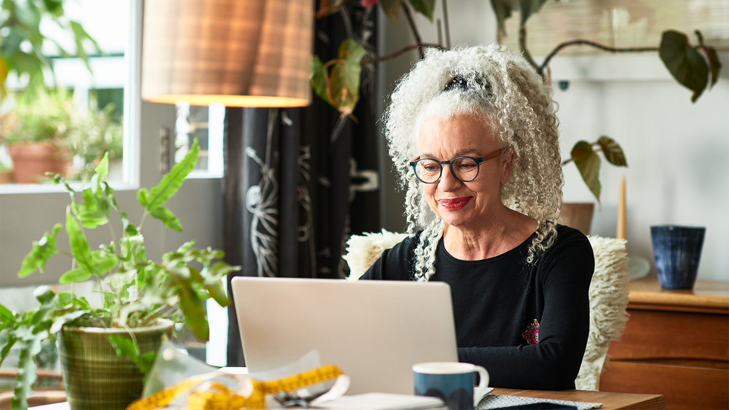
[[[154,326],[130,329],[139,350],[157,351],[174,323],[160,319]],[[123,328],[63,326],[58,333],[63,385],[71,409],[125,409],[141,396],[144,375],[129,358],[120,357],[107,339],[128,335]]]

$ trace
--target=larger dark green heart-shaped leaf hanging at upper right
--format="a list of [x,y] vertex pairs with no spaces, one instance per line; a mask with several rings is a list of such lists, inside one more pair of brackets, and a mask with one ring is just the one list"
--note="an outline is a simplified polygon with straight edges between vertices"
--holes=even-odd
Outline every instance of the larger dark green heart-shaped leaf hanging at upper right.
[[660,39],[659,55],[674,79],[693,90],[691,101],[695,102],[709,82],[709,67],[701,53],[689,46],[684,33],[666,30]]

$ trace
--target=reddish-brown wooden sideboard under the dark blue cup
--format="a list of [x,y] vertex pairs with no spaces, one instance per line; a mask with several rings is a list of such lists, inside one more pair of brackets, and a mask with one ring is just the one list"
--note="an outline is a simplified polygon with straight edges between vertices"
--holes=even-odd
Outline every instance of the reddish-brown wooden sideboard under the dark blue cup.
[[647,277],[629,290],[630,318],[600,390],[660,394],[666,409],[729,409],[729,282],[668,290]]

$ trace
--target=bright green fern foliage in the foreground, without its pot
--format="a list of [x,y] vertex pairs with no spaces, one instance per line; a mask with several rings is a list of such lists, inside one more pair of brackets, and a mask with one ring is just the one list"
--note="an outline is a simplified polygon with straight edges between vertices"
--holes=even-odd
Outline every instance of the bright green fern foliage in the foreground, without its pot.
[[[27,407],[26,399],[36,379],[34,355],[39,352],[41,342],[53,338],[62,328],[89,326],[123,328],[130,332],[134,328],[159,323],[160,319],[171,319],[185,323],[199,339],[208,339],[208,320],[203,301],[212,297],[222,306],[229,304],[223,279],[227,273],[239,268],[223,261],[214,261],[222,258],[222,251],[198,249],[194,242],[165,253],[161,261],[148,260],[141,232],[147,216],[157,218],[168,228],[182,232],[179,220],[163,204],[182,186],[184,178],[197,162],[199,151],[200,146],[195,140],[184,160],[175,165],[160,184],[150,190],[139,189],[137,200],[144,207],[144,216],[139,225],[132,224],[127,213],[120,210],[114,190],[104,181],[109,166],[108,156],[105,155],[95,167],[90,186],[82,187],[81,192],[74,192],[63,178],[54,176],[53,181],[64,184],[71,196],[71,204],[66,208],[65,224],[56,224],[51,232],[33,244],[18,276],[25,277],[36,270],[43,272],[50,256],[63,253],[70,257],[71,269],[63,273],[59,282],[95,280],[101,304],[95,307],[83,296],[54,293],[48,286],[40,286],[34,292],[39,301],[39,307],[35,310],[16,313],[0,304],[0,330],[6,329],[8,332],[7,344],[0,350],[0,363],[14,344],[20,345],[20,372],[15,387],[14,409]],[[120,218],[122,232],[114,232],[110,224],[112,213],[114,217]],[[100,226],[108,226],[112,240],[92,250],[86,240],[85,230]],[[57,243],[61,229],[66,229],[69,236],[69,250],[63,250],[61,244]],[[110,336],[108,340],[117,354],[133,360],[143,373],[151,366],[155,352],[140,351],[131,333],[122,332]],[[66,387],[68,389],[68,385]]]

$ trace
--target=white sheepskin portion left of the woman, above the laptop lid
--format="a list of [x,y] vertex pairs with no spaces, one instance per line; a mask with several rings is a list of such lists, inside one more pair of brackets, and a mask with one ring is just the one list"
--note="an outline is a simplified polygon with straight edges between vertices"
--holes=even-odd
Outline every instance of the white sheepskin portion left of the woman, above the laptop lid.
[[408,234],[389,232],[367,232],[364,235],[352,235],[347,240],[347,254],[343,256],[349,265],[347,280],[357,280],[370,269],[372,264],[382,255],[382,251],[402,242]]

